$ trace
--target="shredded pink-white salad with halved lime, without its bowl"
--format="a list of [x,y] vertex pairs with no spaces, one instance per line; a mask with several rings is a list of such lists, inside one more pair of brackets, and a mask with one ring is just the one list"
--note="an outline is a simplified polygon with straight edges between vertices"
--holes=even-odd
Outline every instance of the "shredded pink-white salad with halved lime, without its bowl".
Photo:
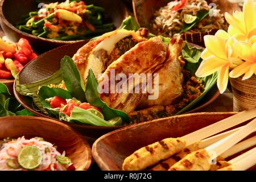
[[42,138],[5,139],[0,145],[0,171],[73,171],[71,159]]

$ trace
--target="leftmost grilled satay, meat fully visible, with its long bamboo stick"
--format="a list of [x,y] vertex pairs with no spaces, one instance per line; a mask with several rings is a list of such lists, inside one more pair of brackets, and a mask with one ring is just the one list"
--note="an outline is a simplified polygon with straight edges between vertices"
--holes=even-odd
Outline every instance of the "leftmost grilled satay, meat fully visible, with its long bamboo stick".
[[230,127],[239,125],[249,119],[256,117],[256,107],[223,119],[213,125],[197,130],[181,138],[167,138],[160,142],[142,147],[128,156],[123,162],[123,170],[140,171],[154,166],[160,160],[170,158],[172,155],[184,150],[186,146],[220,133]]

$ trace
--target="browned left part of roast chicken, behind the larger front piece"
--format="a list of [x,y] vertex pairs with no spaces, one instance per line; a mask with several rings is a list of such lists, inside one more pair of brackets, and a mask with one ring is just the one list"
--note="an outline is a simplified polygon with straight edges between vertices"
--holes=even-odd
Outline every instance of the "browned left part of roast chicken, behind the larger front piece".
[[[116,35],[120,34],[127,34],[127,36],[124,39],[127,39],[126,41],[123,41],[123,44],[127,47],[127,45],[133,47],[138,42],[142,42],[147,40],[148,36],[146,34],[147,30],[144,30],[141,28],[137,32],[134,31],[127,31],[127,30],[115,30],[112,32],[108,32],[99,38],[92,40],[88,43],[86,43],[83,47],[81,47],[77,53],[73,56],[73,60],[79,69],[80,75],[82,77],[82,80],[86,83],[86,79],[88,76],[89,69],[93,69],[94,74],[96,74],[96,77],[105,71],[106,67],[108,67],[109,64],[111,64],[113,61],[117,60],[121,55],[122,51],[119,51],[117,48],[117,45],[115,45],[115,48],[108,53],[104,49],[97,50],[94,52],[94,49],[104,42],[104,40],[109,39],[110,37],[114,37]],[[142,35],[142,36],[141,36]],[[129,38],[129,39],[128,39]],[[121,42],[121,40],[119,41]],[[123,48],[122,46],[118,45],[119,48]],[[105,46],[105,48],[108,48],[109,46]],[[92,54],[95,54],[98,59],[91,60],[90,56]]]

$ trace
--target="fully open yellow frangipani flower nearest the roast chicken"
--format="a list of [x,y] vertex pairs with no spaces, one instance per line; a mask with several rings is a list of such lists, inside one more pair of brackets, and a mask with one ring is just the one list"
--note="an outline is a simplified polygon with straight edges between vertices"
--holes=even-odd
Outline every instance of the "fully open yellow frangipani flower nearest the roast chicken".
[[[203,59],[196,76],[205,77],[218,72],[217,86],[221,93],[224,93],[228,86],[229,68],[236,67],[243,63],[230,48],[233,38],[224,30],[218,30],[216,34],[204,36],[206,49],[203,51]],[[232,61],[230,61],[232,60]]]

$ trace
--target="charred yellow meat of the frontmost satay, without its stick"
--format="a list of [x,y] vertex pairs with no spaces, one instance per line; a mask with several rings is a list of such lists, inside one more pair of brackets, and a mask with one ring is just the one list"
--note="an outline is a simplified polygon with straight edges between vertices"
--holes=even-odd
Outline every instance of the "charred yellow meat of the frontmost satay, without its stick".
[[209,171],[211,166],[209,159],[206,150],[197,150],[174,164],[169,171]]

